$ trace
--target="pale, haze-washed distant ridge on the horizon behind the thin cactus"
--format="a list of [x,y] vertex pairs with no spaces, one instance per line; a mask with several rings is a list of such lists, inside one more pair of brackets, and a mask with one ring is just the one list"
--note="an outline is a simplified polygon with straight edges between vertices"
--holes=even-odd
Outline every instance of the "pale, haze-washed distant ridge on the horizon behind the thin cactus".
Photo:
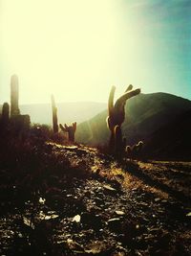
[[[61,124],[69,124],[74,121],[79,124],[95,116],[107,107],[106,104],[92,102],[58,103],[56,106],[58,122]],[[52,125],[51,103],[20,105],[19,108],[22,114],[29,114],[31,116],[32,123]]]

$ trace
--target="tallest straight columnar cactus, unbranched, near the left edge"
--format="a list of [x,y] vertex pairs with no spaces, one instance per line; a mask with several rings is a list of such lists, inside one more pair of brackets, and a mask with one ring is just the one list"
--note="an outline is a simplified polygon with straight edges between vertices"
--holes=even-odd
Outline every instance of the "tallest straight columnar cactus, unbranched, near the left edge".
[[16,75],[11,76],[11,117],[19,115],[20,110],[18,107],[18,77]]

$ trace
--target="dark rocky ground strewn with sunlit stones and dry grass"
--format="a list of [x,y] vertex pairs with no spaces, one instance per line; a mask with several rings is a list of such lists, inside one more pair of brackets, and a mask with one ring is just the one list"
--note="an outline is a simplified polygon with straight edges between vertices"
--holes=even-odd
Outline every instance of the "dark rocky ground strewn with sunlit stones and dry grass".
[[191,163],[38,152],[1,165],[1,255],[190,255]]

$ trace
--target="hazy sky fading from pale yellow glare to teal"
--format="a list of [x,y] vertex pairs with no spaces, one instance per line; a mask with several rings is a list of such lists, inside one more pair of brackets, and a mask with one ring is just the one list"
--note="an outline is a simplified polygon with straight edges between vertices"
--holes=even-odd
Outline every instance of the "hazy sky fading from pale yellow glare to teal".
[[191,99],[190,0],[0,0],[0,104],[107,102],[130,83]]

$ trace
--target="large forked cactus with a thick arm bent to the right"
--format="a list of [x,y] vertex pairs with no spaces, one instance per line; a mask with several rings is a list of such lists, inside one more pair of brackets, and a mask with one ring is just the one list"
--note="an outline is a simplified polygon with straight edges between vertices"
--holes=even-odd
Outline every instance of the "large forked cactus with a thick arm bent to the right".
[[130,84],[124,94],[120,96],[114,105],[114,95],[116,87],[113,86],[108,100],[108,112],[107,125],[111,130],[110,136],[110,150],[115,152],[116,155],[120,155],[124,151],[121,125],[125,120],[125,104],[126,101],[140,93],[140,89],[133,90],[133,85]]

